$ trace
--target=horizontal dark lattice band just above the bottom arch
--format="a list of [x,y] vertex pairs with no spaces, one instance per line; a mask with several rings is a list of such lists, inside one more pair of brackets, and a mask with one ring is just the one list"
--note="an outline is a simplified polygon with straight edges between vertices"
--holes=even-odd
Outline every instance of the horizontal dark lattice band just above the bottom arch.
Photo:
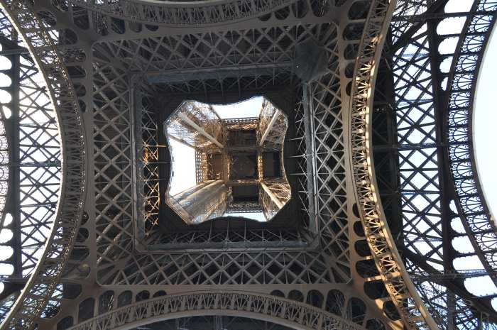
[[327,283],[326,259],[320,253],[241,251],[239,253],[143,253],[121,269],[102,276],[104,284],[240,285]]

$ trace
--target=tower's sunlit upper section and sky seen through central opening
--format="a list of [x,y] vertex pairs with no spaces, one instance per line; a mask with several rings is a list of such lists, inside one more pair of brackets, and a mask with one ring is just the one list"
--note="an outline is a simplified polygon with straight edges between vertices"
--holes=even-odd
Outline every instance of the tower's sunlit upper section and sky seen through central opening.
[[290,199],[286,115],[263,97],[183,101],[163,129],[171,155],[165,202],[187,224],[222,216],[269,221]]

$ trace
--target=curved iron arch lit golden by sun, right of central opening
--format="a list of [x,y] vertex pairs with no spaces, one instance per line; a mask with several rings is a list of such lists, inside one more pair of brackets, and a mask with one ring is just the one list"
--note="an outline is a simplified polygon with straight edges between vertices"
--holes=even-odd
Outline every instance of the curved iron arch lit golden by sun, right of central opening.
[[371,170],[373,165],[369,140],[371,128],[368,126],[368,121],[373,104],[371,98],[375,82],[373,77],[378,70],[376,63],[382,50],[382,40],[378,37],[386,33],[388,18],[393,13],[393,9],[394,4],[388,4],[388,1],[375,1],[368,13],[365,33],[359,47],[351,92],[351,153],[354,184],[366,240],[400,317],[408,329],[435,330],[438,326],[425,309],[398,254],[375,188],[376,178]]

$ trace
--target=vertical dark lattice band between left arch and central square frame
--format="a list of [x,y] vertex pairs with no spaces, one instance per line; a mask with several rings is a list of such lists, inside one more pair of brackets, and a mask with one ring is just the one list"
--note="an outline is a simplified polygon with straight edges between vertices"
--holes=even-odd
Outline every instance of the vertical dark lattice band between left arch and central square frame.
[[130,89],[110,62],[94,62],[93,79],[97,263],[106,269],[133,251]]

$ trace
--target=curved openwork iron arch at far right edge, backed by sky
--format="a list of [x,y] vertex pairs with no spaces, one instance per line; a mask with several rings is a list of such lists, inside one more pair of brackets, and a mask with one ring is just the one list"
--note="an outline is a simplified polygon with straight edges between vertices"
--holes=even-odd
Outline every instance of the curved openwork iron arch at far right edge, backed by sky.
[[475,1],[466,18],[449,75],[447,158],[457,195],[457,210],[476,255],[497,285],[497,226],[491,219],[476,172],[472,114],[476,81],[488,38],[496,23],[497,2]]

